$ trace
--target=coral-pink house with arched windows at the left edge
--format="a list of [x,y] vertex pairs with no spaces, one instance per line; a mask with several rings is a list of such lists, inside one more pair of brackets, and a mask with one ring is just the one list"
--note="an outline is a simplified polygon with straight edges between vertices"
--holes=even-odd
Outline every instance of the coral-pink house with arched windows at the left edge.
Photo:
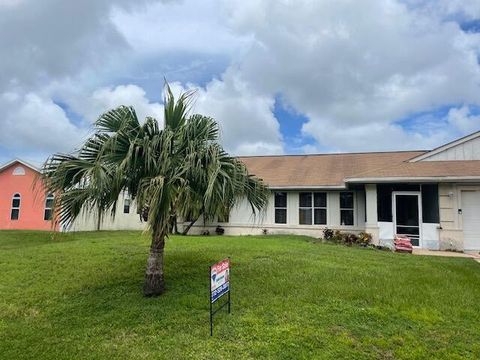
[[39,174],[19,159],[0,166],[0,230],[58,230],[52,222],[53,196],[35,181]]

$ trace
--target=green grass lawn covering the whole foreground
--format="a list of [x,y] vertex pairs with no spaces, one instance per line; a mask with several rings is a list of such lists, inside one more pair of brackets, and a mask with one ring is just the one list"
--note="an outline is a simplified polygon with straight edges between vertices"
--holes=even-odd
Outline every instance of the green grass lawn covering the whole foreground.
[[[300,236],[171,237],[141,294],[138,232],[0,232],[1,359],[476,359],[480,264]],[[208,265],[232,314],[209,336]]]

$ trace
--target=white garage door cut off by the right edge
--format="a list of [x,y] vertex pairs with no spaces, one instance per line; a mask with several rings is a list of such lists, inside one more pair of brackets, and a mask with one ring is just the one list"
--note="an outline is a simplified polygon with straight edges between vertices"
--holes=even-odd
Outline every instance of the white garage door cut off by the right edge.
[[480,191],[462,191],[465,250],[480,250]]

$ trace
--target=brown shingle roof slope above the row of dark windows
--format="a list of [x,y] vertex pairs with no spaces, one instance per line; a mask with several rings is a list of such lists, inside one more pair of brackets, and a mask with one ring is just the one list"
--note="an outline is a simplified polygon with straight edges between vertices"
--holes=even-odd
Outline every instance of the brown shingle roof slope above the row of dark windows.
[[400,165],[425,151],[240,157],[271,188],[344,187],[344,179]]

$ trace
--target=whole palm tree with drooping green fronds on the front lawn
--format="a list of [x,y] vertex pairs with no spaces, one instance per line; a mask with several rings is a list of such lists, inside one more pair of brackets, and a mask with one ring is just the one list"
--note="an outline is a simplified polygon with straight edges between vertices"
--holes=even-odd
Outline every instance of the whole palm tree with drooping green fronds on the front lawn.
[[110,110],[79,151],[54,154],[43,166],[48,191],[58,194],[57,221],[67,226],[82,211],[115,216],[119,196],[128,192],[152,237],[145,296],[165,289],[163,253],[172,216],[201,209],[211,219],[244,198],[257,214],[267,203],[263,182],[219,144],[217,123],[188,116],[193,96],[186,92],[175,99],[166,84],[163,129],[151,117],[140,123],[133,107]]

